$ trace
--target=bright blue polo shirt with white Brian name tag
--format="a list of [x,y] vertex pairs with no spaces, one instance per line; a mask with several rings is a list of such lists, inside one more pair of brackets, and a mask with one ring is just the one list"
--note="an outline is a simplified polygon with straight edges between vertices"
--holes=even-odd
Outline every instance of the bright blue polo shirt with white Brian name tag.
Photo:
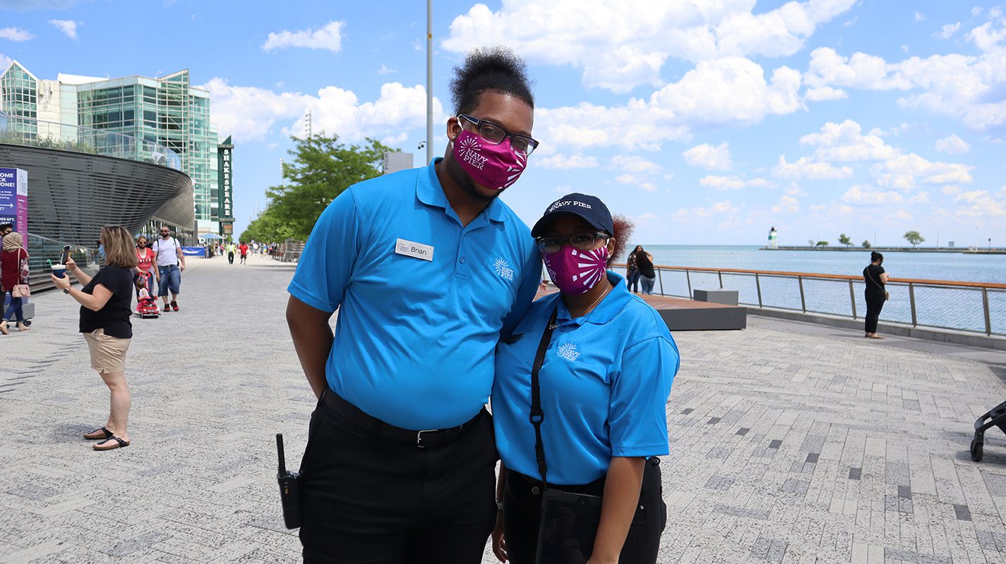
[[406,429],[474,417],[488,401],[500,331],[534,299],[541,257],[499,199],[467,226],[434,168],[355,184],[322,212],[289,292],[339,310],[328,386]]

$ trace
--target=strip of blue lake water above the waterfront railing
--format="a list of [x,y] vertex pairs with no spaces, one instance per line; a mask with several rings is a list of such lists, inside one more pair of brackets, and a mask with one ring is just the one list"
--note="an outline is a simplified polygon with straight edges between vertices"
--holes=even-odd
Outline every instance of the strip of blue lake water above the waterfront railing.
[[[630,247],[631,250],[632,247]],[[643,245],[655,264],[860,276],[870,251],[762,250],[758,246]],[[628,255],[628,250],[623,254]],[[884,252],[892,277],[1006,283],[1006,254]],[[626,257],[620,256],[619,262]]]

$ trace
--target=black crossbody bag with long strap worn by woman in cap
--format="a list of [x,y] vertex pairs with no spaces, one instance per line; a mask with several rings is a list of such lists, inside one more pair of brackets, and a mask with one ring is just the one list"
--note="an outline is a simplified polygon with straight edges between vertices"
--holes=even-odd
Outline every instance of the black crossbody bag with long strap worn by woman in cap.
[[[541,387],[538,372],[545,360],[545,352],[555,329],[558,307],[552,311],[548,325],[541,335],[538,351],[531,367],[531,424],[534,425],[534,457],[541,474],[541,513],[538,527],[538,546],[535,562],[582,562],[594,552],[594,539],[601,524],[600,496],[563,492],[548,487],[548,465],[545,463],[545,446],[541,442]],[[580,560],[582,559],[582,560]]]

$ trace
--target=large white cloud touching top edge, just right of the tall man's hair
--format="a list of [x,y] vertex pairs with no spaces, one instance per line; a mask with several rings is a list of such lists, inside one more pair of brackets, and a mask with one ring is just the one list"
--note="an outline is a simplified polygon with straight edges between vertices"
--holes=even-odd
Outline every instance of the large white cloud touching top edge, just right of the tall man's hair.
[[854,3],[791,1],[754,14],[751,0],[503,0],[497,11],[478,3],[456,17],[442,45],[457,53],[508,45],[532,63],[581,69],[589,87],[627,92],[660,86],[668,58],[792,55]]

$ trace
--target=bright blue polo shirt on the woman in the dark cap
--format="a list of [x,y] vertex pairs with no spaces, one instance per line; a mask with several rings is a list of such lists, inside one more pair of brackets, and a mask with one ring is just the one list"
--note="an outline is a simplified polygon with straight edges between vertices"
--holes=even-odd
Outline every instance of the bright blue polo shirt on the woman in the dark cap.
[[493,384],[496,446],[510,469],[541,480],[534,457],[531,366],[558,305],[557,327],[538,373],[541,441],[548,483],[590,484],[608,474],[612,456],[667,454],[665,406],[678,371],[678,347],[660,314],[615,287],[594,311],[570,319],[559,294],[531,305],[513,336],[500,343]]

